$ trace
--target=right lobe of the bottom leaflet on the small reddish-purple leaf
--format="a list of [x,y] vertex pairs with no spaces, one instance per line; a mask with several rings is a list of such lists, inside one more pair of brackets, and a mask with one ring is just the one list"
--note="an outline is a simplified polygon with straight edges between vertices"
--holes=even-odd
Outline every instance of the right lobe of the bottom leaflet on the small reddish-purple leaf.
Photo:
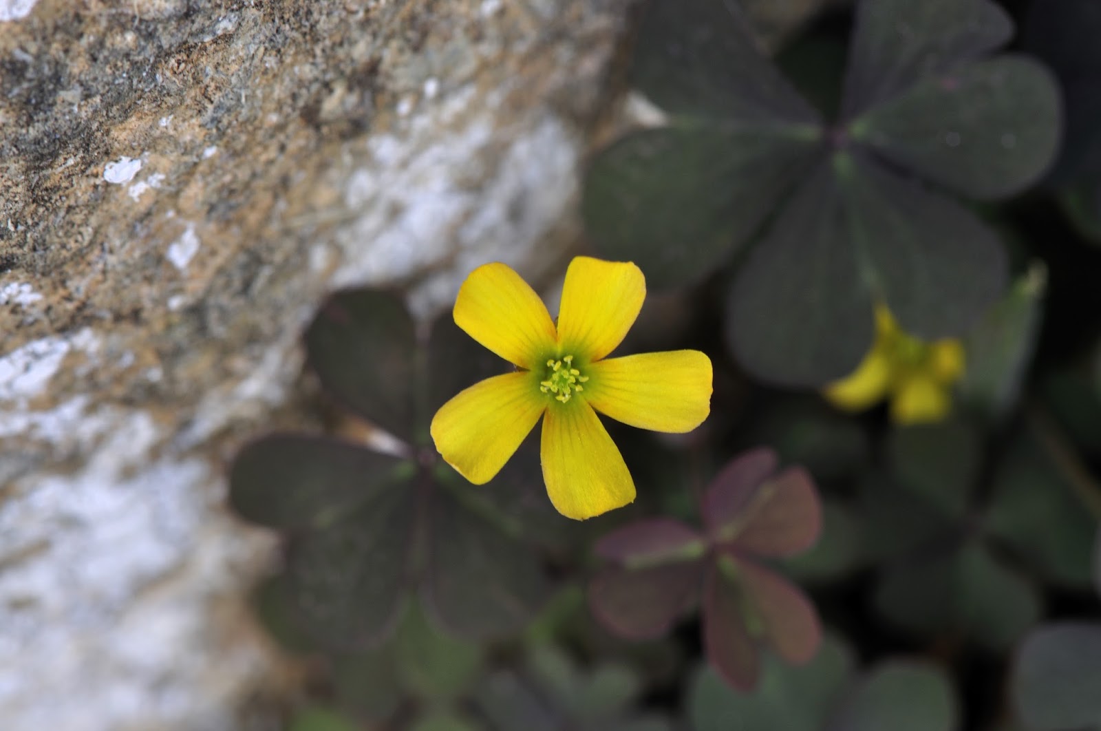
[[733,561],[746,604],[756,613],[749,619],[760,624],[764,639],[776,653],[794,665],[814,657],[822,631],[815,605],[807,596],[784,577],[753,561],[731,554],[719,560]]

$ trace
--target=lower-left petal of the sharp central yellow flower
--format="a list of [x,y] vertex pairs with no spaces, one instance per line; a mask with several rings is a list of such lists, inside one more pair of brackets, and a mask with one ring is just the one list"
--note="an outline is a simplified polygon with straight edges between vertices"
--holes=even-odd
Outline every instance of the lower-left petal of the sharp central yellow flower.
[[475,484],[493,479],[546,408],[527,372],[494,375],[460,391],[432,419],[436,450]]

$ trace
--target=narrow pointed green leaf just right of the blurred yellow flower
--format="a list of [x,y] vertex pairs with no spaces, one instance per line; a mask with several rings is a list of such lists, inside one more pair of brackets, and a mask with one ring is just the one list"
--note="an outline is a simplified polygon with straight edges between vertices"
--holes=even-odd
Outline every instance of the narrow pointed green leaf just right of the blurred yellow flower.
[[1047,272],[1034,263],[968,335],[963,401],[993,418],[1016,405],[1039,335]]

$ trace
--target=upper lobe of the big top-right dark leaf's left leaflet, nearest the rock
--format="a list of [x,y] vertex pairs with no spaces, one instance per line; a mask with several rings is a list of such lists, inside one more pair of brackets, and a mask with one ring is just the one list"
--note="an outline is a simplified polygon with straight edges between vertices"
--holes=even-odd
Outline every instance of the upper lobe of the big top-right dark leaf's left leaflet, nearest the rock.
[[632,80],[684,117],[815,124],[814,110],[756,50],[738,3],[654,0],[644,11]]

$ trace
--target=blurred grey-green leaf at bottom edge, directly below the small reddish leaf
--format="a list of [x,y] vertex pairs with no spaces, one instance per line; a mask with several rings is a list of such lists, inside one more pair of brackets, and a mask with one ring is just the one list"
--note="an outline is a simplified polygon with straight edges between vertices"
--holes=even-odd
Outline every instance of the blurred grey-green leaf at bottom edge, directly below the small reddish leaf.
[[760,688],[741,694],[710,668],[688,696],[693,731],[951,731],[959,711],[944,673],[927,663],[892,659],[866,675],[852,652],[827,635],[818,654],[795,667],[765,655]]

